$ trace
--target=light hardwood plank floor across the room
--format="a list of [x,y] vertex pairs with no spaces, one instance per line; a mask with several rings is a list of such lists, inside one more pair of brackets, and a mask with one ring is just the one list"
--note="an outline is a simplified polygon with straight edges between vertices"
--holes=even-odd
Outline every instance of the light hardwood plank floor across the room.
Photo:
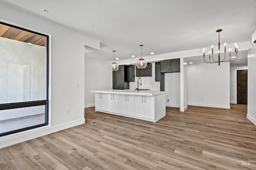
[[246,107],[167,107],[157,123],[87,108],[83,125],[0,149],[0,169],[255,170]]

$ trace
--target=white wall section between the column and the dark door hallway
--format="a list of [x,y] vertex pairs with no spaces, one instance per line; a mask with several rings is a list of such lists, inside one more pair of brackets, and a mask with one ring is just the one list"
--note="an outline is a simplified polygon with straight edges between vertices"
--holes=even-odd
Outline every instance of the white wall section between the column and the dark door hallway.
[[188,64],[188,105],[230,109],[230,63]]

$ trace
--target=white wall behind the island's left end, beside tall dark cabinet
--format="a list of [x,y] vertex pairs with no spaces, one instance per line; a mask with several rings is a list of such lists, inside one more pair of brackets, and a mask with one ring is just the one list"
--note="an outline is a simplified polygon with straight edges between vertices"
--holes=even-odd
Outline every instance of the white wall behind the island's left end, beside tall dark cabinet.
[[95,106],[95,94],[90,90],[112,89],[112,71],[110,61],[84,55],[84,108]]

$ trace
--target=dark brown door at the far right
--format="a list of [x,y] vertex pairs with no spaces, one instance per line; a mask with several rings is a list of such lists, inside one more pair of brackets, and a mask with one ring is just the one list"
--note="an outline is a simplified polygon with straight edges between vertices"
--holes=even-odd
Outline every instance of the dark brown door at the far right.
[[237,104],[247,105],[247,70],[237,71]]

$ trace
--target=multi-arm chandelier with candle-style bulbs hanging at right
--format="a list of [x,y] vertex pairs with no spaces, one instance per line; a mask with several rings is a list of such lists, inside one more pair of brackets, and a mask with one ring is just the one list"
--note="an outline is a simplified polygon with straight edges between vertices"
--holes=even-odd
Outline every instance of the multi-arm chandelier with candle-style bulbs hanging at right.
[[[216,30],[216,32],[219,33],[219,43],[218,43],[218,58],[214,59],[214,55],[213,55],[213,45],[212,45],[212,51],[209,51],[209,61],[206,61],[205,60],[205,48],[204,48],[204,51],[203,51],[203,56],[204,56],[204,62],[205,63],[219,63],[220,65],[220,62],[229,62],[229,61],[234,61],[236,60],[237,58],[237,52],[238,52],[238,46],[236,45],[236,43],[234,44],[235,45],[235,50],[234,50],[234,56],[231,57],[231,48],[229,48],[229,57],[226,58],[226,43],[224,43],[224,46],[225,46],[225,49],[224,49],[224,59],[220,59],[220,32],[222,31],[222,29],[219,29],[219,30]],[[212,53],[212,56],[211,56],[211,53]]]

